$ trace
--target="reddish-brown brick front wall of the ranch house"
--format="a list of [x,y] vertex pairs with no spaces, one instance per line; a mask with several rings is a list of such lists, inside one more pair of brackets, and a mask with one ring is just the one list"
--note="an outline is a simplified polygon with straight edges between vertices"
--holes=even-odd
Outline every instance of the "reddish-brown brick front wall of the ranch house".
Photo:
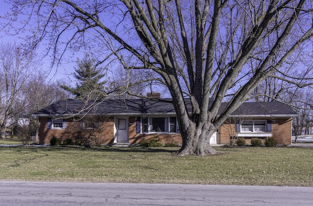
[[[40,144],[50,144],[53,136],[65,140],[67,138],[81,138],[81,130],[79,129],[78,122],[73,122],[67,119],[67,129],[47,129],[47,118],[40,118],[39,124],[39,137]],[[136,119],[135,117],[129,118],[129,143],[139,144],[143,139],[150,139],[158,135],[162,143],[171,143],[172,141],[181,144],[180,134],[140,134],[136,133]],[[272,135],[277,140],[278,144],[291,144],[291,119],[275,119],[272,120]],[[105,123],[105,131],[103,137],[106,144],[114,142],[114,121],[113,118]],[[227,130],[234,130],[235,124],[224,124],[220,127],[220,141],[218,144],[229,144],[229,132]],[[270,133],[270,132],[268,132]],[[231,134],[231,132],[230,132]],[[250,140],[247,139],[246,143],[249,144]]]

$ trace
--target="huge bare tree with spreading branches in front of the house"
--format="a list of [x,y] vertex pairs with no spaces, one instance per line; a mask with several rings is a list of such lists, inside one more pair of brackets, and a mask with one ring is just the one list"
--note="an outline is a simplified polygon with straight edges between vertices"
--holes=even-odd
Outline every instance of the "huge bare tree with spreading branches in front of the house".
[[24,15],[23,28],[33,31],[29,45],[45,42],[56,62],[67,49],[90,49],[165,85],[182,136],[179,156],[215,153],[212,134],[270,75],[312,83],[311,68],[286,70],[312,52],[311,0],[15,0],[12,8],[10,19]]

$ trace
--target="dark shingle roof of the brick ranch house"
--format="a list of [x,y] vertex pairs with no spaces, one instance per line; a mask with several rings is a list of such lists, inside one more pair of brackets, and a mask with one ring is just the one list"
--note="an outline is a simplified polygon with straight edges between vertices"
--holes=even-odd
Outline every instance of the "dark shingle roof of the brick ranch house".
[[[169,100],[169,99],[167,99]],[[189,99],[185,99],[189,112],[191,112],[191,104]],[[219,113],[227,103],[222,103]],[[93,113],[108,115],[140,115],[140,114],[175,114],[172,103],[155,102],[147,99],[128,99],[128,100],[105,100],[97,104],[95,107],[88,107],[85,101],[66,100],[55,102],[37,112],[34,116],[66,116],[77,113]],[[81,110],[85,108],[83,112]],[[246,102],[241,105],[233,115],[259,116],[259,115],[275,115],[275,116],[294,116],[296,113],[286,104],[278,102]]]

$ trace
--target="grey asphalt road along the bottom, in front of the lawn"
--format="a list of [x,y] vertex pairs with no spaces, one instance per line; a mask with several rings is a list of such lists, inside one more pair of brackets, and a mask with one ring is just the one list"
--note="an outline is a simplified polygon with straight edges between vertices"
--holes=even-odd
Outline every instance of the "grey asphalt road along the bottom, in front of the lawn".
[[313,187],[0,181],[1,206],[311,206]]

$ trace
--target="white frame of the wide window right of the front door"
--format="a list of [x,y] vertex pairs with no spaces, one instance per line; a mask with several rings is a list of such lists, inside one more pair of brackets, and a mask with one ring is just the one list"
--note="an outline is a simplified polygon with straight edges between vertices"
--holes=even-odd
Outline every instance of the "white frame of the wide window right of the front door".
[[[153,128],[153,119],[154,118],[164,118],[164,129],[165,131],[157,131],[157,129]],[[170,132],[171,129],[171,125],[173,126],[173,122],[171,123],[170,120],[173,117],[141,117],[141,121],[140,121],[140,131],[142,134],[155,134],[155,133],[160,133],[160,134],[176,134],[179,133],[179,129],[178,129],[178,122],[177,122],[177,118],[175,118],[176,123],[175,123],[175,132]],[[144,121],[145,122],[144,122]],[[148,125],[146,125],[148,124]],[[147,130],[148,131],[144,131],[144,127],[147,126]]]

